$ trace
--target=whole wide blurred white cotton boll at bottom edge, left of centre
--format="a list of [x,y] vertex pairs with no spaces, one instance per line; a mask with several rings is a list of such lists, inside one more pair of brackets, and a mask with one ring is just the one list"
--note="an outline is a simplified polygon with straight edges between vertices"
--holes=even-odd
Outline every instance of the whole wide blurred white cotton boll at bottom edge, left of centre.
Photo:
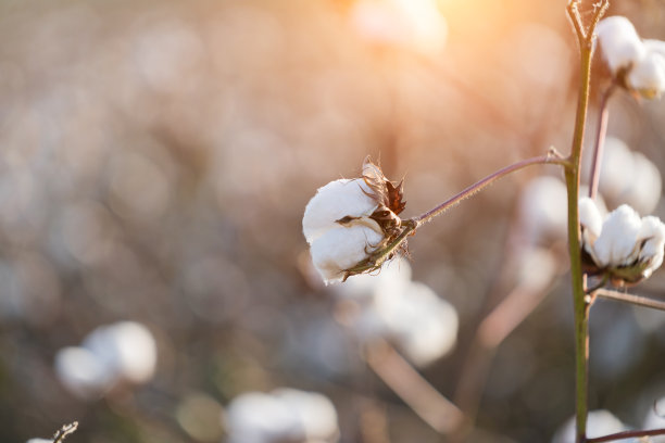
[[339,439],[332,403],[314,392],[248,392],[230,402],[223,418],[229,443],[332,443]]

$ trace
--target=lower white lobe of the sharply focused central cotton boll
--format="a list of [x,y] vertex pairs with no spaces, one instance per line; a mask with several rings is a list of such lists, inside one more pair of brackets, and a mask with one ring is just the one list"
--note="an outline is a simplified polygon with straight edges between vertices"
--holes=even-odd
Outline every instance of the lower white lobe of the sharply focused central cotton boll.
[[365,226],[339,226],[312,243],[312,261],[326,284],[341,281],[343,271],[367,258],[382,240],[384,236]]

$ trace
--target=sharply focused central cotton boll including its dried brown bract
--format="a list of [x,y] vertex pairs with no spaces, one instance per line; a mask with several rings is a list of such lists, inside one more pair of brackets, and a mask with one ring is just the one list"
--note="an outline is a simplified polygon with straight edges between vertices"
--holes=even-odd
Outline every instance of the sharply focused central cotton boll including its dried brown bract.
[[399,236],[403,208],[401,183],[391,183],[368,160],[362,178],[319,188],[308,203],[302,230],[326,284],[380,266],[372,254]]

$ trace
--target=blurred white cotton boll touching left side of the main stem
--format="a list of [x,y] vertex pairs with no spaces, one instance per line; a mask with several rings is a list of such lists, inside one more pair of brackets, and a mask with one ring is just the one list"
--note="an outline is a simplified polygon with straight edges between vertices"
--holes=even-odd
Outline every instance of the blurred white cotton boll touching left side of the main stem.
[[565,238],[567,228],[566,186],[542,176],[529,181],[519,198],[519,223],[527,241],[547,243]]

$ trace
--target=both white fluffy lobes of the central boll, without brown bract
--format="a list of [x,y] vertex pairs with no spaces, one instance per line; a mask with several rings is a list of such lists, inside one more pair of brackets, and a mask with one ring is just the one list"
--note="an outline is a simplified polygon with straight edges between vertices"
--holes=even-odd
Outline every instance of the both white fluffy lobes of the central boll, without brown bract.
[[[302,230],[311,245],[312,262],[326,284],[340,281],[385,238],[369,216],[378,207],[363,179],[340,179],[319,188],[310,200]],[[343,219],[352,219],[342,224]]]

